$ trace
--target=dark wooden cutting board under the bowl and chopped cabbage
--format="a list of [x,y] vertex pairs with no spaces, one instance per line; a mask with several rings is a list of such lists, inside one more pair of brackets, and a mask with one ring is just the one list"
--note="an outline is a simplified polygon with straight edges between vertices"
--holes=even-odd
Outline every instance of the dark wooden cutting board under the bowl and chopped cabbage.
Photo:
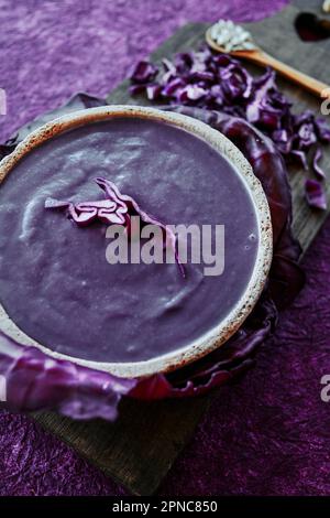
[[[330,40],[312,44],[301,42],[293,28],[298,12],[298,8],[290,6],[271,19],[245,25],[256,42],[275,57],[330,83]],[[197,48],[204,41],[206,28],[201,23],[183,26],[152,55],[152,60]],[[279,79],[278,83],[284,93],[294,99],[298,110],[307,107],[316,112],[320,110],[319,99],[285,80]],[[128,82],[116,88],[107,100],[109,104],[147,104],[145,99],[129,97]],[[323,164],[330,176],[329,149],[326,150]],[[329,211],[310,211],[304,201],[304,177],[301,171],[290,172],[294,230],[306,250]],[[330,206],[330,182],[327,191]],[[124,400],[116,423],[101,420],[75,422],[50,412],[36,413],[34,418],[131,493],[151,495],[191,436],[211,398],[212,395],[209,395],[152,403]]]

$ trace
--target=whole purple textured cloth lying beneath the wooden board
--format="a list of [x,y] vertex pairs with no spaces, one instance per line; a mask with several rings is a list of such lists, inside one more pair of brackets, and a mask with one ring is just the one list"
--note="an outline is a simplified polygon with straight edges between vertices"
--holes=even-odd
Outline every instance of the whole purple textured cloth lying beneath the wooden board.
[[[286,0],[0,0],[0,140],[77,90],[106,95],[187,21],[260,19]],[[329,495],[330,222],[307,253],[308,282],[256,367],[220,389],[162,495]],[[28,417],[0,412],[0,495],[124,490]]]

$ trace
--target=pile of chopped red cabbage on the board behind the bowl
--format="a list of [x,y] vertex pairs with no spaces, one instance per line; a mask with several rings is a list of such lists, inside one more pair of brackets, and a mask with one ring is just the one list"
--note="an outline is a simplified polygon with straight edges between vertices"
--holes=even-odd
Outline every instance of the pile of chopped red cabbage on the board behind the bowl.
[[273,69],[252,77],[241,62],[208,47],[178,53],[162,65],[160,72],[151,63],[138,64],[131,76],[131,95],[145,94],[150,100],[241,117],[270,137],[288,162],[307,170],[311,151],[312,171],[319,179],[324,176],[319,165],[320,144],[330,142],[330,127],[310,110],[295,115],[292,102],[276,86]]

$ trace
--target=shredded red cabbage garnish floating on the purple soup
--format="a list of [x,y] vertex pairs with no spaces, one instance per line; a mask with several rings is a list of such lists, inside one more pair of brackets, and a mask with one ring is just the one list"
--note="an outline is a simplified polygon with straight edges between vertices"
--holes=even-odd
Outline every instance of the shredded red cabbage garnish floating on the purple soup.
[[67,209],[69,218],[78,226],[84,227],[99,220],[107,225],[122,225],[128,231],[131,229],[131,216],[140,216],[145,224],[156,225],[162,228],[163,236],[165,236],[164,245],[172,247],[180,273],[186,277],[184,265],[180,262],[176,250],[176,237],[173,230],[154,216],[142,211],[131,196],[121,194],[110,180],[98,177],[96,183],[105,192],[106,199],[74,204],[73,202],[61,202],[48,197],[45,201],[45,208]]

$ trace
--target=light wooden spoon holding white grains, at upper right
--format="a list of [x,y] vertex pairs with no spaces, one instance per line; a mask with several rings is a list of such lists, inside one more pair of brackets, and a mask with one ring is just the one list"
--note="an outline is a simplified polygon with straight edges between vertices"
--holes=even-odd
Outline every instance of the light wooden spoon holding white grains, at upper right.
[[275,60],[275,57],[271,56],[256,45],[254,48],[251,50],[234,50],[230,52],[226,51],[222,46],[218,45],[218,43],[212,39],[211,29],[212,26],[210,26],[206,32],[206,41],[208,45],[215,51],[230,54],[233,57],[242,57],[243,60],[250,60],[251,62],[256,63],[258,65],[272,66],[284,77],[290,79],[294,83],[297,83],[311,94],[317,95],[321,98],[330,98],[329,85],[318,79],[315,79],[314,77],[310,77],[307,74],[304,74],[302,72],[298,72],[294,67],[286,65],[285,63],[282,63],[278,60]]

